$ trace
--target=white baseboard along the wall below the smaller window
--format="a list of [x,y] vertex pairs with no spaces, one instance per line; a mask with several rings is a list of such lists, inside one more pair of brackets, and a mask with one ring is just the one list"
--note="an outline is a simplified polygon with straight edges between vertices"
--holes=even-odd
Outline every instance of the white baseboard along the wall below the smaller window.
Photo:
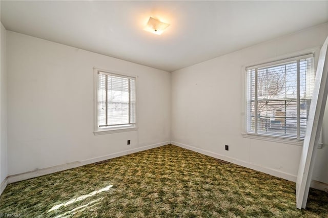
[[[160,147],[160,146],[167,145],[167,144],[170,144],[170,141],[156,143],[156,144],[147,145],[147,146],[143,146],[143,147],[137,147],[137,148],[124,150],[124,151],[119,151],[119,152],[116,152],[116,153],[113,153],[113,154],[110,154],[110,155],[100,156],[100,157],[91,158],[91,159],[87,159],[87,160],[75,161],[75,162],[62,164],[62,165],[57,165],[57,166],[53,166],[53,167],[37,169],[37,170],[29,171],[29,172],[23,172],[23,173],[19,173],[19,174],[16,174],[16,175],[8,176],[6,178],[6,181],[7,181],[8,184],[14,183],[14,182],[19,182],[19,181],[39,177],[39,176],[44,176],[44,175],[54,173],[54,172],[59,172],[59,171],[72,169],[72,168],[79,167],[79,166],[84,166],[84,165],[87,165],[87,164],[96,163],[96,162],[99,162],[99,161],[104,161],[104,160],[108,160],[108,159],[112,159],[112,158],[117,158],[117,157],[120,157],[120,156],[130,155],[130,154],[133,154],[135,152],[148,150],[148,149],[151,149],[151,148],[156,148],[156,147]],[[6,187],[6,186],[4,186],[4,187]],[[2,186],[1,186],[1,188],[2,188]]]

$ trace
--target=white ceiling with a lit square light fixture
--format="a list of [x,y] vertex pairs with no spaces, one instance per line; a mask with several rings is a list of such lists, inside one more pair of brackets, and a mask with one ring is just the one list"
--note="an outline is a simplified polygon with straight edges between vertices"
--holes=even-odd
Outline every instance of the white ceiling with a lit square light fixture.
[[1,1],[7,30],[169,72],[327,21],[328,1]]

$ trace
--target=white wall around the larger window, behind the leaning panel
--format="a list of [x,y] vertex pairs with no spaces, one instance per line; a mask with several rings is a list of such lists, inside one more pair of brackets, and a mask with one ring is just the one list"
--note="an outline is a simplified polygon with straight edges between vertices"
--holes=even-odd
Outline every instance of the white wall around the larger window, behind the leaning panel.
[[[295,181],[301,146],[241,136],[241,69],[250,63],[321,46],[327,35],[325,24],[172,72],[172,143]],[[230,145],[229,151],[224,150],[226,144]],[[328,183],[327,145],[318,154],[314,178]]]

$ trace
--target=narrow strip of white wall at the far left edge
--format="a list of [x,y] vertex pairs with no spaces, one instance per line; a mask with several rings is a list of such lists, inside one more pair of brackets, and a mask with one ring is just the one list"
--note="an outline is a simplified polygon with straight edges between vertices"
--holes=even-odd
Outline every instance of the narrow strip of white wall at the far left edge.
[[[0,30],[0,184],[7,177],[7,71],[6,71],[6,29]],[[0,191],[1,193],[1,191]]]

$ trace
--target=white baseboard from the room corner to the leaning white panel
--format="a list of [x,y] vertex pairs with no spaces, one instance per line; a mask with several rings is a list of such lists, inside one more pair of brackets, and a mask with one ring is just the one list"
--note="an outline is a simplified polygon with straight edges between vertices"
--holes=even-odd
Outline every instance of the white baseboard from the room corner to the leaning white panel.
[[223,155],[217,154],[217,153],[209,151],[209,150],[204,150],[204,149],[201,149],[201,148],[193,147],[193,146],[182,144],[182,143],[175,142],[175,141],[171,141],[171,144],[182,147],[182,148],[186,148],[188,150],[198,152],[198,153],[203,154],[203,155],[207,155],[207,156],[217,158],[217,159],[220,159],[220,160],[223,160],[223,161],[228,161],[230,163],[234,163],[234,164],[237,164],[237,165],[240,165],[240,166],[243,166],[243,167],[254,169],[256,171],[264,172],[264,173],[267,173],[269,175],[279,177],[279,178],[282,178],[282,179],[285,179],[285,180],[289,180],[289,181],[292,181],[292,182],[296,182],[296,179],[297,179],[296,175],[292,175],[290,173],[278,171],[276,169],[272,169],[272,168],[268,168],[268,167],[258,166],[256,164],[252,164],[252,163],[248,163],[248,162],[241,161],[241,160],[238,160],[238,159],[223,156]]

